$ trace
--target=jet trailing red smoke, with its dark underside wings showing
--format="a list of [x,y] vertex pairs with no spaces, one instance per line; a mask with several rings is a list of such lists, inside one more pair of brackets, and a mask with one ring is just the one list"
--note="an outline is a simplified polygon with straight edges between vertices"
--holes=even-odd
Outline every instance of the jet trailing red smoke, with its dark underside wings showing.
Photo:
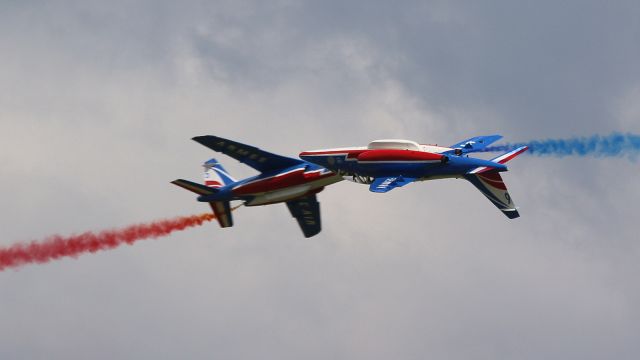
[[203,165],[204,185],[184,179],[171,182],[198,194],[198,201],[209,203],[221,227],[233,226],[230,202],[240,200],[245,206],[284,202],[305,237],[312,237],[322,230],[316,194],[325,186],[342,181],[341,176],[304,160],[272,154],[213,135],[196,136],[193,140],[260,172],[236,180],[216,159],[211,159]]

